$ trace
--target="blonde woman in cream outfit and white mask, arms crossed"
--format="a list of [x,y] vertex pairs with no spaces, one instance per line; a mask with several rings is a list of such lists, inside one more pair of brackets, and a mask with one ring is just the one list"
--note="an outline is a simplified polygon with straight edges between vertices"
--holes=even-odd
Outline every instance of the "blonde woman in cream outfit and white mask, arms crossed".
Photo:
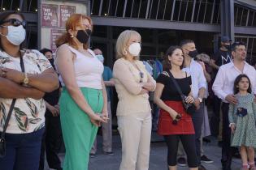
[[138,61],[141,36],[126,30],[116,41],[117,61],[113,78],[119,102],[116,110],[118,130],[122,141],[120,170],[146,170],[149,168],[151,108],[149,91],[155,81]]

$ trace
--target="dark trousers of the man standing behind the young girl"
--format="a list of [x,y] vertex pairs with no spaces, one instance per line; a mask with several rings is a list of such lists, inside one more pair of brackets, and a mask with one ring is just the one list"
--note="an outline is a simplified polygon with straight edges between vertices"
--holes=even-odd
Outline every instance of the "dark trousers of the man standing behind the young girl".
[[222,115],[223,115],[222,140],[223,140],[223,144],[222,144],[222,159],[221,159],[221,163],[223,165],[223,170],[231,170],[232,153],[234,151],[234,148],[230,147],[231,130],[229,128],[228,109],[229,109],[229,104],[223,102],[223,104],[222,104]]

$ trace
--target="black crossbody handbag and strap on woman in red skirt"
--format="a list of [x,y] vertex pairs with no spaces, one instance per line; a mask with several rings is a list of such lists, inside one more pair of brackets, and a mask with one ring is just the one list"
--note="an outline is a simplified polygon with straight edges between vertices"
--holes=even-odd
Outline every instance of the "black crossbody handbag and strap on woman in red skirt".
[[181,98],[181,100],[182,100],[182,104],[183,104],[183,107],[184,107],[186,113],[188,113],[189,115],[193,115],[193,113],[196,112],[196,106],[195,106],[194,104],[188,104],[188,103],[186,102],[187,96],[185,96],[185,95],[182,93],[182,91],[181,91],[181,89],[180,89],[180,86],[179,86],[178,83],[176,82],[176,79],[174,79],[173,75],[171,74],[171,71],[168,70],[167,72],[168,72],[168,74],[169,74],[169,77],[171,78],[172,83],[174,83],[174,85],[176,86],[177,91],[178,91],[179,94],[180,94],[180,98]]

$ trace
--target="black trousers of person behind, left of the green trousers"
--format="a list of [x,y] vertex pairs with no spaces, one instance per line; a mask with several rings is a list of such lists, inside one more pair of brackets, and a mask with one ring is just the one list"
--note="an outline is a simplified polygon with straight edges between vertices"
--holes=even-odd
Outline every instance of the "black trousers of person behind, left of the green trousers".
[[[50,113],[51,114],[51,113]],[[44,169],[45,151],[49,168],[60,169],[59,150],[62,145],[62,132],[59,117],[53,117],[46,112],[46,132],[41,142],[41,155],[39,170]]]

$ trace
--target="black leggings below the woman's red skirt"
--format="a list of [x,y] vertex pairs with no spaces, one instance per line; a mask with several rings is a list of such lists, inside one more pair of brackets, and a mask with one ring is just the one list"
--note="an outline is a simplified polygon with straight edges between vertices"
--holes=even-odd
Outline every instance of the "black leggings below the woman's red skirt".
[[198,166],[194,134],[173,134],[163,137],[168,147],[167,163],[169,166],[176,166],[177,164],[179,141],[181,141],[187,154],[189,168],[196,168]]

